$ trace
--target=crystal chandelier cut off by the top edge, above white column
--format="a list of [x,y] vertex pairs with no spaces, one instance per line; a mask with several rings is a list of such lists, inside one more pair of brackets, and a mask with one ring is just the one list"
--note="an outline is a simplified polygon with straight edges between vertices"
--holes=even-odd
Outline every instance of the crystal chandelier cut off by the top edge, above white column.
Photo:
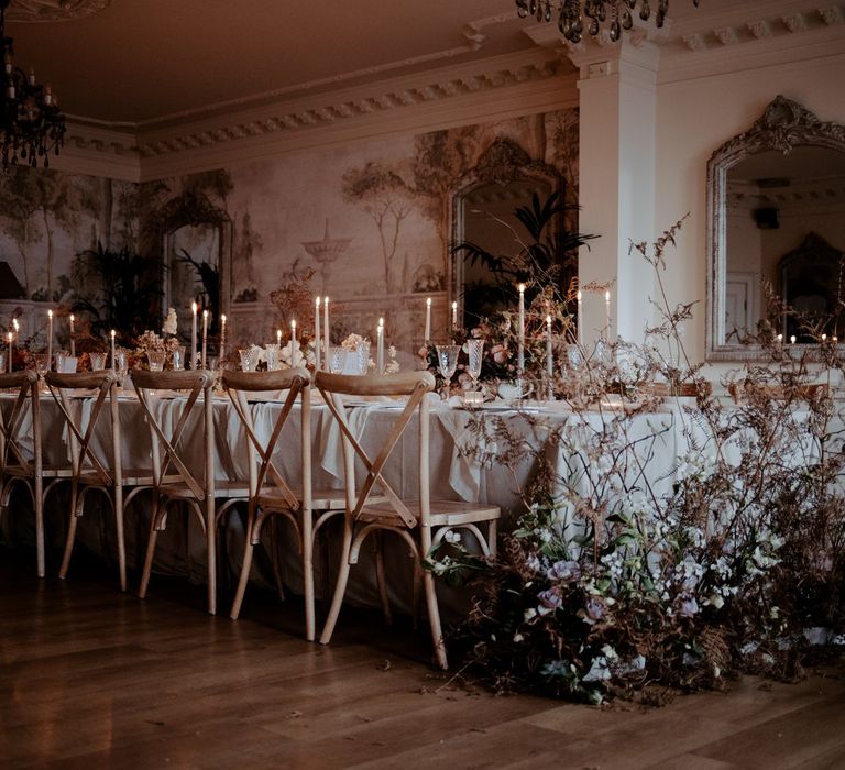
[[[699,0],[692,2],[698,7]],[[651,18],[648,0],[516,0],[516,10],[520,19],[531,15],[537,21],[551,21],[557,14],[558,29],[571,43],[580,43],[584,31],[595,37],[607,19],[611,20],[607,33],[615,43],[623,30],[634,26],[634,13],[638,12],[643,21]],[[655,16],[658,28],[663,25],[668,10],[669,0],[658,0]]]

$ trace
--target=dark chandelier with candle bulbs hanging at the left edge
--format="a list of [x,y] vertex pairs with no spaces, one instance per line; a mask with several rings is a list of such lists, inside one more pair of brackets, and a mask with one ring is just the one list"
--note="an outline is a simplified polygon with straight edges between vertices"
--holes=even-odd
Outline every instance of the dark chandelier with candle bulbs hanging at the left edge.
[[6,36],[6,9],[10,0],[0,0],[0,37],[3,40],[2,97],[0,101],[0,154],[3,169],[18,162],[50,165],[50,153],[58,154],[65,139],[65,116],[50,85],[35,82],[14,66],[14,43]]

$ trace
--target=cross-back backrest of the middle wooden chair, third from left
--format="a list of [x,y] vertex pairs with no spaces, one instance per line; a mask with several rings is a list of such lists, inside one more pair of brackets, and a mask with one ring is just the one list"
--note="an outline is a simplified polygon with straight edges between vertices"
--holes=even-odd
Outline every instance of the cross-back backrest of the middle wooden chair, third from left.
[[[164,484],[185,484],[198,501],[213,499],[215,496],[215,436],[211,403],[213,375],[205,370],[179,372],[147,372],[132,370],[132,386],[138,393],[138,400],[150,425],[152,443],[153,483],[155,487]],[[173,395],[183,392],[184,405],[178,419],[165,419],[166,410],[160,408],[163,393]],[[201,398],[200,398],[201,396]],[[186,427],[195,411],[202,407],[202,473],[199,480],[188,466],[189,454]]]

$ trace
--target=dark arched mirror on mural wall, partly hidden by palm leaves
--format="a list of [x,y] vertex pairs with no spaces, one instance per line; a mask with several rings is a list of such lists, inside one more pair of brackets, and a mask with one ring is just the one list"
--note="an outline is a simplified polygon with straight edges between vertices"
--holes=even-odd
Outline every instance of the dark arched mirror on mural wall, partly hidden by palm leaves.
[[[516,142],[496,139],[480,156],[465,184],[452,195],[451,248],[448,260],[449,302],[458,302],[460,326],[471,327],[497,309],[513,308],[516,288],[503,287],[502,276],[471,249],[511,256],[526,239],[515,216],[519,207],[562,195],[562,179],[553,166],[534,161]],[[562,222],[550,222],[550,230]],[[551,234],[551,233],[549,233]],[[507,292],[513,289],[513,298]]]

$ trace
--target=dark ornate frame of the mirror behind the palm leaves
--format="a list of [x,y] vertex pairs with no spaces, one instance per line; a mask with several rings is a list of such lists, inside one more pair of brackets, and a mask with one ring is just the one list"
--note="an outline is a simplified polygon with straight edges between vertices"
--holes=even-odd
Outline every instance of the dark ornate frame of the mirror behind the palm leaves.
[[[481,153],[475,166],[463,177],[460,187],[452,189],[449,194],[446,286],[448,306],[451,307],[453,301],[458,302],[458,318],[465,317],[463,265],[459,263],[460,257],[453,252],[454,244],[465,240],[461,201],[469,193],[490,183],[507,186],[517,179],[534,180],[538,186],[547,185],[551,191],[558,191],[561,195],[566,193],[563,176],[555,166],[531,158],[514,140],[500,136]],[[563,227],[562,215],[558,220],[555,226],[560,229]]]

